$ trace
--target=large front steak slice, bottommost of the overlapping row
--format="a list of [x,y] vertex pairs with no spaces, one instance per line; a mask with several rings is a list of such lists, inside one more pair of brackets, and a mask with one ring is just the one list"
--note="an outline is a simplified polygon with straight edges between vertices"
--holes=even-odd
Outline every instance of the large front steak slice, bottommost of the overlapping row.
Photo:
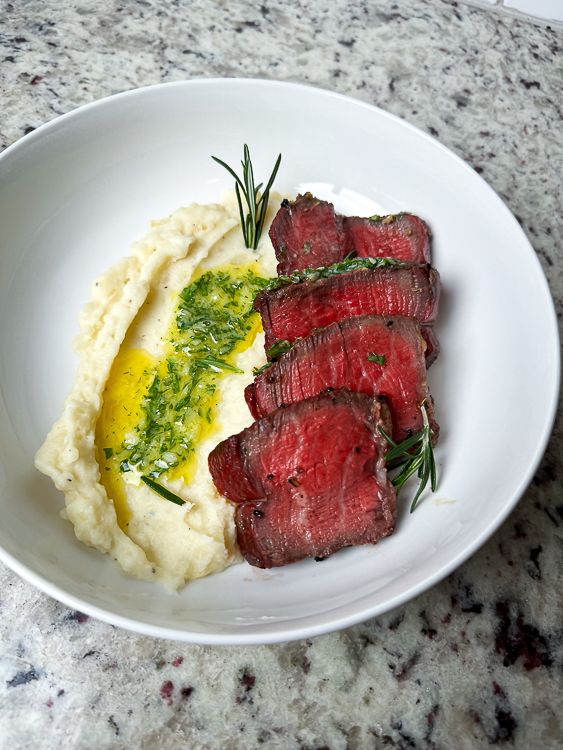
[[218,491],[237,503],[238,543],[273,568],[372,544],[393,531],[385,404],[346,389],[278,409],[209,456]]

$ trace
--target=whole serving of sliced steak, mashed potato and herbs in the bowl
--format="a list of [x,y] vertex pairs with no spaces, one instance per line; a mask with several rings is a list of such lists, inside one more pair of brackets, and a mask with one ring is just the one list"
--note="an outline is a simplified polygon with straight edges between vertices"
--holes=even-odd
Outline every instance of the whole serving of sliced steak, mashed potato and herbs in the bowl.
[[245,147],[235,191],[95,280],[36,456],[77,537],[170,591],[374,543],[409,476],[413,508],[436,483],[428,227],[272,192],[279,161],[260,195]]

